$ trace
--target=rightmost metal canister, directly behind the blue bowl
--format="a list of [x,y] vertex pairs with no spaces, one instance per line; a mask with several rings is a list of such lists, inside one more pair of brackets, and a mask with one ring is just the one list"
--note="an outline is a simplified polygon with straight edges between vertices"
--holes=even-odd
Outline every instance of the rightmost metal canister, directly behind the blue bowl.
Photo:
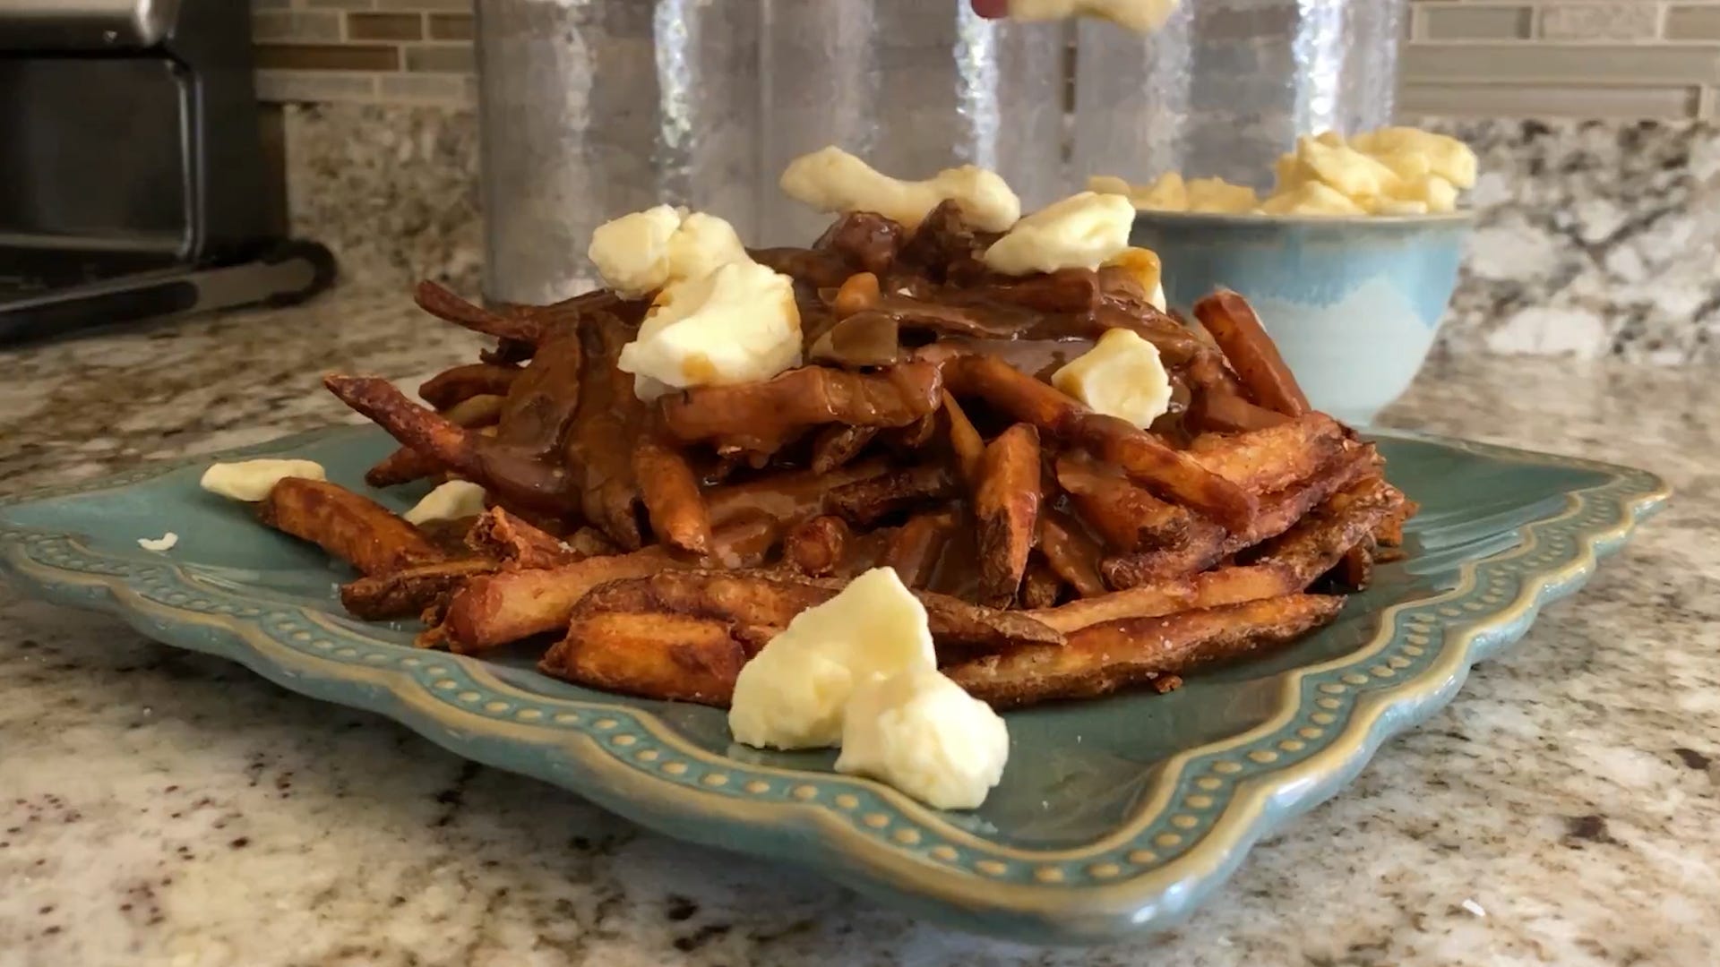
[[1163,31],[1077,28],[1073,169],[1269,188],[1300,134],[1391,122],[1405,0],[1185,0]]

